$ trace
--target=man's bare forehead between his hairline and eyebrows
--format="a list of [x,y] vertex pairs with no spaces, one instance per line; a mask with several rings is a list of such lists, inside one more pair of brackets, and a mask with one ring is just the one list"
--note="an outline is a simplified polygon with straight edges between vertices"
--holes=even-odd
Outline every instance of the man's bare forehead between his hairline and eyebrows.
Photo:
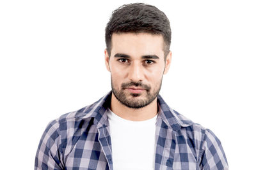
[[157,55],[164,57],[162,35],[141,33],[114,33],[111,38],[111,55],[125,53],[130,56]]

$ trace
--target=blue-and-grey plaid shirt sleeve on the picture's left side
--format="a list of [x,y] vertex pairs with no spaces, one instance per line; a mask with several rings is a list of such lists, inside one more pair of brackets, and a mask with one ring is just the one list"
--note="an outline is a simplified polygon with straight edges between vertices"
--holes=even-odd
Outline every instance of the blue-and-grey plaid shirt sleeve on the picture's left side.
[[36,152],[35,170],[63,169],[61,137],[56,120],[49,123],[44,131]]

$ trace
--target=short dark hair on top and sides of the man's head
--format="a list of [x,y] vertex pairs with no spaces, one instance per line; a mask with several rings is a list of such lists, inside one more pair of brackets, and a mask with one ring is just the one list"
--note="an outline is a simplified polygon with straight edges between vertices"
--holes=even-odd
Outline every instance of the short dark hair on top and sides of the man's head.
[[172,32],[168,18],[156,6],[143,3],[125,4],[113,11],[105,29],[105,41],[109,57],[113,33],[122,32],[148,32],[162,35],[164,60],[166,59],[166,55],[170,51]]

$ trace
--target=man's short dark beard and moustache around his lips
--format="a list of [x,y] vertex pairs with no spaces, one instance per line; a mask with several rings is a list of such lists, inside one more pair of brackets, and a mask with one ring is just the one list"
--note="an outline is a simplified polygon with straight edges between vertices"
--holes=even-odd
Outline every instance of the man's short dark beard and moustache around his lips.
[[[124,104],[128,108],[139,109],[147,106],[148,104],[152,103],[154,99],[156,99],[157,95],[161,90],[162,80],[163,80],[163,76],[161,78],[161,81],[156,85],[155,89],[152,89],[150,85],[145,85],[141,83],[141,81],[138,81],[138,82],[130,81],[129,83],[122,83],[121,89],[118,89],[113,85],[112,76],[111,76],[111,87],[112,87],[113,94],[115,95],[116,99],[120,103]],[[125,92],[125,89],[131,86],[141,87],[141,89],[145,89],[145,91],[139,94]],[[144,94],[145,92],[146,92],[146,96],[144,97],[144,99],[142,97],[140,99],[140,96],[145,95]]]

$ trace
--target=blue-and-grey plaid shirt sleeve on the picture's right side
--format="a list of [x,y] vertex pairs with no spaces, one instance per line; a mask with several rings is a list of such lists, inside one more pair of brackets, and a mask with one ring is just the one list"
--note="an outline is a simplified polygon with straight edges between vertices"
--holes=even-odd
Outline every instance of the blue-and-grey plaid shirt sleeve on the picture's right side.
[[228,170],[228,162],[221,142],[209,129],[205,130],[199,159],[201,170]]

